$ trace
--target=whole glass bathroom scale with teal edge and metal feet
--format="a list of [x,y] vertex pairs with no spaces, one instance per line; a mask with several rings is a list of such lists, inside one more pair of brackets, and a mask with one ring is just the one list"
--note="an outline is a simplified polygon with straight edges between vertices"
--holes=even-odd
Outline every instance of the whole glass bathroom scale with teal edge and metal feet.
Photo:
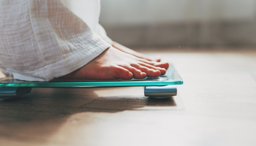
[[0,78],[0,99],[11,99],[21,97],[30,93],[32,88],[105,88],[105,87],[129,87],[145,86],[144,95],[146,97],[167,98],[176,96],[177,89],[175,85],[183,84],[178,72],[172,64],[165,75],[159,77],[146,77],[144,79],[131,80],[111,80],[95,81],[84,79],[60,79],[55,78],[49,82],[32,82],[14,79],[6,76]]

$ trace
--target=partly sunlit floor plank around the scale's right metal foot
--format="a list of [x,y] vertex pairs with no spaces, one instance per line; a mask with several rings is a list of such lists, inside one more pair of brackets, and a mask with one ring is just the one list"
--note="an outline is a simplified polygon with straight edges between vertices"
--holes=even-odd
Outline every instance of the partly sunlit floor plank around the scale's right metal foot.
[[144,87],[106,88],[96,93],[100,98],[82,107],[116,110],[182,110],[184,108],[179,96],[167,99],[144,97]]

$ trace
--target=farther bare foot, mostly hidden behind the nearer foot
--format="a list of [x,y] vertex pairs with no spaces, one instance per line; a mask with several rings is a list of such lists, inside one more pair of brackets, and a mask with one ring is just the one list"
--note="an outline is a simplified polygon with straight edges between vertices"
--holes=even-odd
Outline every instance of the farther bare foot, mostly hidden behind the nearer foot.
[[127,48],[126,46],[123,46],[117,42],[113,42],[113,47],[125,52],[125,53],[128,53],[128,54],[131,54],[131,55],[134,55],[136,57],[139,57],[139,58],[143,58],[143,59],[146,59],[146,60],[149,60],[149,61],[156,61],[156,62],[160,62],[161,59],[159,56],[156,56],[156,57],[151,57],[151,56],[147,56],[147,55],[144,55],[144,54],[141,54],[139,52],[136,52],[130,48]]

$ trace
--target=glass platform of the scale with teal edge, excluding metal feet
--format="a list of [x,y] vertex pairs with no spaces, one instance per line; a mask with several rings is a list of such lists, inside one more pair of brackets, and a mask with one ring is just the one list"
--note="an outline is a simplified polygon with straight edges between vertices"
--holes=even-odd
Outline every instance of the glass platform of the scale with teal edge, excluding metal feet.
[[29,82],[21,81],[13,78],[0,79],[0,87],[118,87],[118,86],[165,86],[165,85],[181,85],[183,81],[170,64],[165,75],[157,78],[146,77],[145,79],[131,79],[129,81],[84,81],[80,80],[52,80],[50,82]]

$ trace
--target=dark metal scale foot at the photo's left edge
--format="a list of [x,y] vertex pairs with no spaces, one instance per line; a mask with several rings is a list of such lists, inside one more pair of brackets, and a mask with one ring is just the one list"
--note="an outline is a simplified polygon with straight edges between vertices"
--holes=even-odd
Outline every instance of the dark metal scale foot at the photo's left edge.
[[31,87],[0,87],[0,99],[12,99],[28,94]]

